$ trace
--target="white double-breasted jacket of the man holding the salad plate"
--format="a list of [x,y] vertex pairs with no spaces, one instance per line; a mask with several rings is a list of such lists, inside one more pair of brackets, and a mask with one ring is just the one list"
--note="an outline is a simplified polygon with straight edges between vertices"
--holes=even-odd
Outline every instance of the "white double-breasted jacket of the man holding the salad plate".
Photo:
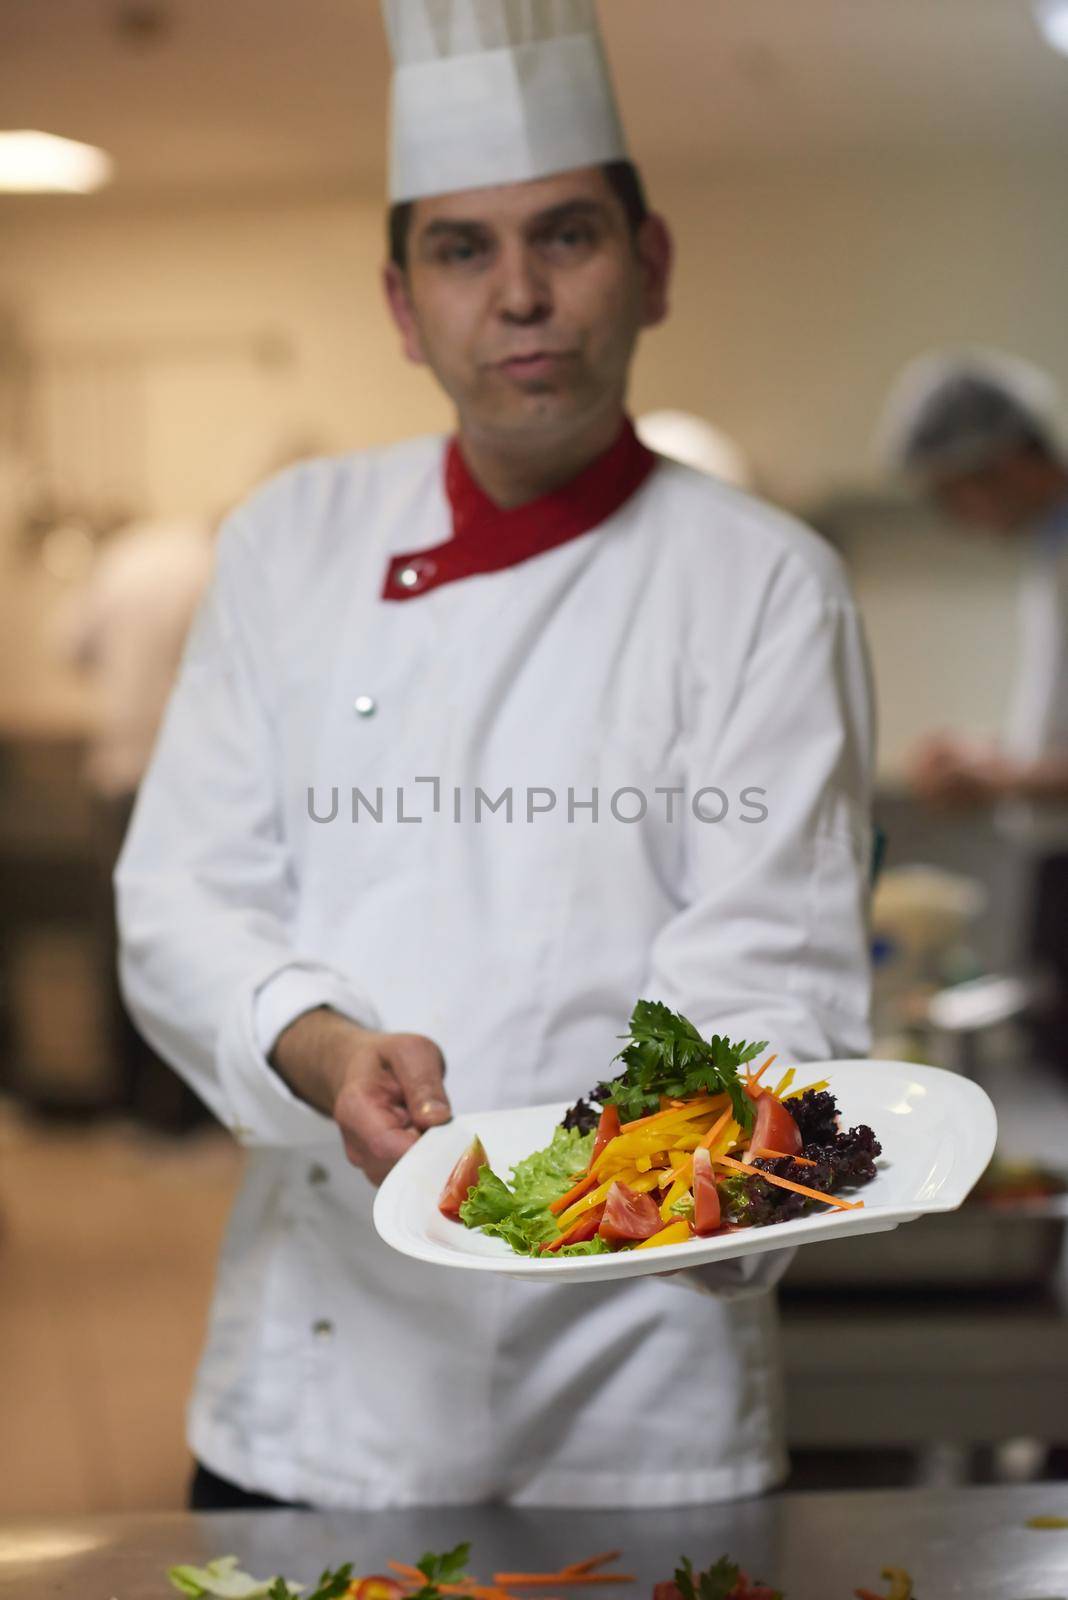
[[863,1054],[862,629],[814,534],[667,461],[579,538],[382,600],[449,538],[441,467],[438,438],[310,462],[230,517],[117,872],[134,1016],[249,1150],[190,1445],[318,1506],[755,1493],[785,1467],[767,1293],[401,1258],[262,1046],[313,1003],[427,1034],[457,1112],[588,1091],[638,997]]

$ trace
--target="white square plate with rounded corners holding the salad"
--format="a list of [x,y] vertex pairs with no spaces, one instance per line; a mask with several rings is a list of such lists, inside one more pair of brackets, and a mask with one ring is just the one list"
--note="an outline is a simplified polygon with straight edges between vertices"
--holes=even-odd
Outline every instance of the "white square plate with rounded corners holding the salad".
[[857,1211],[831,1211],[743,1229],[719,1238],[691,1238],[659,1250],[611,1256],[516,1256],[502,1238],[451,1222],[438,1197],[475,1134],[489,1165],[510,1179],[512,1166],[544,1149],[568,1107],[465,1112],[432,1128],[397,1163],[374,1198],[374,1226],[387,1245],[436,1267],[504,1272],[513,1278],[627,1278],[643,1272],[695,1267],[707,1261],[755,1256],[764,1250],[812,1245],[849,1234],[883,1234],[929,1211],[953,1211],[983,1174],[998,1138],[990,1098],[969,1078],[908,1061],[806,1062],[809,1082],[827,1078],[838,1099],[841,1126],[868,1123],[883,1146],[878,1173],[847,1198]]

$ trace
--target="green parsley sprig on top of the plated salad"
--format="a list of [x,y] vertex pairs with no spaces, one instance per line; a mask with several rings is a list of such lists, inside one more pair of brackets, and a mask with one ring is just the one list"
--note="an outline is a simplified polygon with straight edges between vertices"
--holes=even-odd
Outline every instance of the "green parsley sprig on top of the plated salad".
[[737,1122],[742,1128],[751,1128],[753,1106],[745,1094],[739,1069],[766,1050],[766,1042],[734,1045],[719,1034],[702,1038],[689,1018],[681,1011],[671,1011],[660,1000],[636,1003],[627,1040],[616,1056],[624,1062],[624,1072],[604,1086],[604,1094],[617,1107],[620,1122],[633,1122],[659,1110],[662,1094],[671,1099],[729,1094]]

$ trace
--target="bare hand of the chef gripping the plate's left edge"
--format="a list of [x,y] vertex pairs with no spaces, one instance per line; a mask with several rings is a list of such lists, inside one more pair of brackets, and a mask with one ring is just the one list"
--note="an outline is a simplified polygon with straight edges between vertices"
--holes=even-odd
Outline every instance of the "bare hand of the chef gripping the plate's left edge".
[[280,1034],[270,1056],[289,1088],[333,1117],[345,1155],[373,1182],[425,1128],[452,1115],[444,1056],[422,1034],[379,1034],[321,1006]]

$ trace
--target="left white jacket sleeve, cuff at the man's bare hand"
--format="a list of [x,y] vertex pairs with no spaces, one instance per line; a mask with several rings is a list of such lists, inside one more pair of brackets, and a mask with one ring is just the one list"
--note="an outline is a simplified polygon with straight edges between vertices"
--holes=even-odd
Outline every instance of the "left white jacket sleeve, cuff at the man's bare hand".
[[272,725],[277,630],[251,520],[238,512],[221,534],[118,862],[120,978],[145,1038],[237,1138],[307,1144],[336,1128],[265,1061],[257,994],[293,974],[297,1010],[331,1005],[371,1027],[377,1016],[342,973],[293,944]]

